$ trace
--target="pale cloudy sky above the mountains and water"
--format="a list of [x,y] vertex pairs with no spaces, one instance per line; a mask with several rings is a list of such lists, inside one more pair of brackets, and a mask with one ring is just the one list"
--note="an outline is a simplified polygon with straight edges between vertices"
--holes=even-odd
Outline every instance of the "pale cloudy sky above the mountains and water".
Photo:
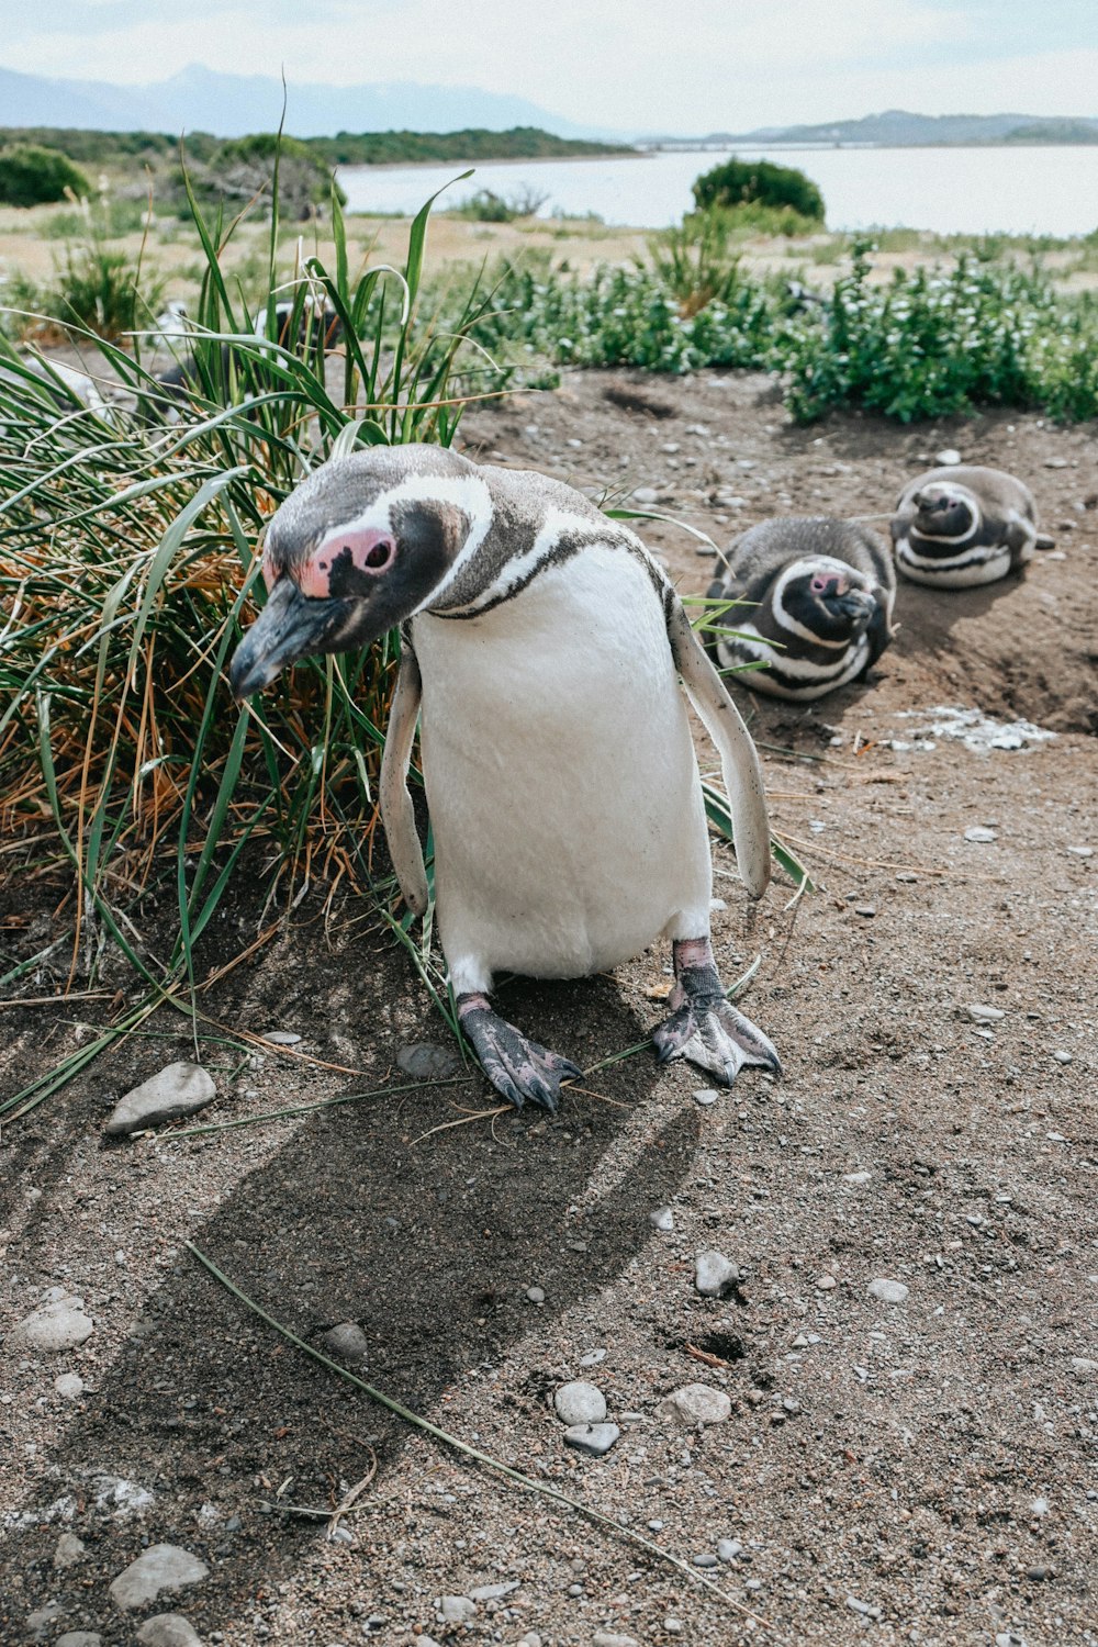
[[[1098,0],[0,0],[0,66],[512,92],[622,132],[1098,117]],[[0,112],[2,120],[2,112]]]

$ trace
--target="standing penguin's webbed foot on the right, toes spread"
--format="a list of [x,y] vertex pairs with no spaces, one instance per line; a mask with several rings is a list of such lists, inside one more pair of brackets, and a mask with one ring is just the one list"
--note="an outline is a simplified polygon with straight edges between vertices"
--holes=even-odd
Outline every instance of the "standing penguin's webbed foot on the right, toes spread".
[[675,944],[675,1010],[652,1036],[662,1064],[686,1057],[726,1087],[744,1064],[782,1074],[782,1061],[762,1029],[726,1000],[708,939]]

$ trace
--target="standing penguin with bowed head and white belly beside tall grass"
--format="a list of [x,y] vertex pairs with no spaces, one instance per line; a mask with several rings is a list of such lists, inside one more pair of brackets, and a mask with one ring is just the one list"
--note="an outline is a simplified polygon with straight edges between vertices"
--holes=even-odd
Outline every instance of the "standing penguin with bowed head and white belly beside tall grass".
[[408,907],[428,904],[407,787],[416,716],[438,927],[461,1026],[512,1103],[556,1107],[579,1071],[499,1018],[499,972],[576,978],[673,944],[660,1059],[731,1084],[780,1069],[724,998],[711,861],[678,677],[721,754],[739,873],[770,878],[754,744],[675,590],[624,525],[543,474],[440,446],[372,448],[316,469],[273,516],[268,600],[237,649],[237,698],[311,652],[402,626],[380,777]]

